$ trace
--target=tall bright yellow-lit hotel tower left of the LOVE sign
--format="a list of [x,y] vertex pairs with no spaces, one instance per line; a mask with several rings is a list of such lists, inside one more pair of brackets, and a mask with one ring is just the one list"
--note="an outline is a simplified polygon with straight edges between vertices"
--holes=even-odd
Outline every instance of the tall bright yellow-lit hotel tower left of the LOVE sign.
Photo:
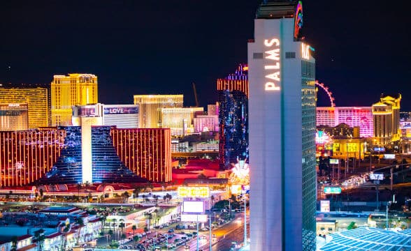
[[97,76],[92,74],[54,75],[51,83],[52,126],[71,126],[71,107],[98,102]]

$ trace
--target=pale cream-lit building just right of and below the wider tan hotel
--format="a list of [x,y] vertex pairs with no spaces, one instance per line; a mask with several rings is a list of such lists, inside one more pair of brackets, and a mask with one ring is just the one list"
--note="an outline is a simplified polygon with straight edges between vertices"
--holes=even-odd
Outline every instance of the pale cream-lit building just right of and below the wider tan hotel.
[[194,132],[194,117],[203,114],[203,107],[161,108],[162,128],[170,128],[172,136]]

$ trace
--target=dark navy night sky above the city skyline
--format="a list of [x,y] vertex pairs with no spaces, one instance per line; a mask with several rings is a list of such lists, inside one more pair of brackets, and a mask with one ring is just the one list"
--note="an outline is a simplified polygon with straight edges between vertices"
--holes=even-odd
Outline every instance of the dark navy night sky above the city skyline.
[[[0,3],[0,83],[50,83],[52,75],[93,73],[99,102],[133,94],[183,93],[217,101],[216,79],[247,61],[261,1],[12,1]],[[405,2],[405,1],[403,1]],[[337,106],[370,106],[402,93],[411,110],[410,20],[389,1],[303,1],[316,77]],[[324,92],[319,106],[327,106]]]

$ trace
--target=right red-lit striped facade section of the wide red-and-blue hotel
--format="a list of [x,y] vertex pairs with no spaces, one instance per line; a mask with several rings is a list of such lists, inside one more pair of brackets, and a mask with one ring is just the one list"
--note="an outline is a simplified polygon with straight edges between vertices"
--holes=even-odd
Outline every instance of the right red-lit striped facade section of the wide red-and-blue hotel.
[[171,181],[171,132],[169,128],[112,128],[111,137],[120,160],[141,178]]

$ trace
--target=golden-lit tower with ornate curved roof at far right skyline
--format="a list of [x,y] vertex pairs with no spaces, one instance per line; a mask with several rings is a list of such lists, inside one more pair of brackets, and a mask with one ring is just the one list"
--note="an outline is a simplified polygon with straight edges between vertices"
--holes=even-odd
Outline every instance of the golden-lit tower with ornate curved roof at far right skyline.
[[380,102],[373,104],[376,144],[384,145],[400,140],[400,102],[401,94],[396,98],[382,95]]

